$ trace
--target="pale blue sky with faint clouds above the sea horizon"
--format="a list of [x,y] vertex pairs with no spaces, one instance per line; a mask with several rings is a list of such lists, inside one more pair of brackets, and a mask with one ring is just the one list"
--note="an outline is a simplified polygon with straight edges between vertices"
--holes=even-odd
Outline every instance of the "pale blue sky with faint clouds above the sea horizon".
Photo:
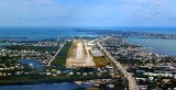
[[0,0],[0,26],[176,26],[176,0]]

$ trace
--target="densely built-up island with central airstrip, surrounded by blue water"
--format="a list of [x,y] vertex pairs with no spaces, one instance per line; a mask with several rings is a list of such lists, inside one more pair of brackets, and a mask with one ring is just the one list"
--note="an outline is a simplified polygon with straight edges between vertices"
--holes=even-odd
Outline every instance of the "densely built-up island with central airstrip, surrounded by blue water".
[[152,52],[129,37],[175,40],[147,32],[90,31],[99,36],[65,36],[2,46],[0,86],[90,83],[91,89],[174,89],[176,57]]

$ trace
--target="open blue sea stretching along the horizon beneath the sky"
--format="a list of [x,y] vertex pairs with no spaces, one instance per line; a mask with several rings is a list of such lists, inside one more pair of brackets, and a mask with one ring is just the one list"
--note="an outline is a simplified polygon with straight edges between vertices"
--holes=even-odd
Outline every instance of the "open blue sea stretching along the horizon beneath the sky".
[[29,37],[32,40],[55,38],[58,36],[96,36],[92,32],[75,30],[108,30],[139,31],[152,33],[176,33],[176,27],[117,27],[117,26],[85,26],[85,27],[0,27],[0,37]]

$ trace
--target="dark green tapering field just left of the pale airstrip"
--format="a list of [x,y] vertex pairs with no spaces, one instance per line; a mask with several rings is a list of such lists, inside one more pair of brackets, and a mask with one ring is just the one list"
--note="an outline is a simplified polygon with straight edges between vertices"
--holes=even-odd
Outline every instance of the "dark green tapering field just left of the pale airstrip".
[[69,48],[73,42],[67,42],[61,52],[57,54],[56,58],[52,61],[53,66],[57,66],[59,68],[65,68],[66,59],[68,56]]

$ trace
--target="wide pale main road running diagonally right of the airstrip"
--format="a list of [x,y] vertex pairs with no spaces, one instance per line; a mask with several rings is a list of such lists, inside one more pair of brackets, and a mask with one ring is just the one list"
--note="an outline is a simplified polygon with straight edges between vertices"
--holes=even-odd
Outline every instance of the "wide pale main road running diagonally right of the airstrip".
[[[116,65],[116,67],[124,75],[124,77],[128,79],[129,81],[129,90],[139,90],[138,85],[135,82],[135,79],[132,77],[132,74],[128,72],[127,69],[119,63],[116,60],[116,58],[113,58],[107,49],[105,49],[105,47],[100,44],[100,42],[103,42],[106,40],[108,40],[110,37],[103,38],[101,41],[99,41],[97,44],[98,46],[106,53],[106,55],[110,58],[110,60],[112,60],[112,63]],[[121,53],[121,52],[119,52]]]

